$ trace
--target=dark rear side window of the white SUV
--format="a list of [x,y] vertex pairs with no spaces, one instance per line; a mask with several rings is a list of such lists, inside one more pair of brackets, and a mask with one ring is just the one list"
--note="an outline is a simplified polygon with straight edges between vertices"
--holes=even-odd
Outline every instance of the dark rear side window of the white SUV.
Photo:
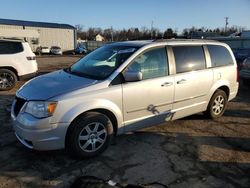
[[21,42],[0,42],[0,54],[16,54],[22,51]]

